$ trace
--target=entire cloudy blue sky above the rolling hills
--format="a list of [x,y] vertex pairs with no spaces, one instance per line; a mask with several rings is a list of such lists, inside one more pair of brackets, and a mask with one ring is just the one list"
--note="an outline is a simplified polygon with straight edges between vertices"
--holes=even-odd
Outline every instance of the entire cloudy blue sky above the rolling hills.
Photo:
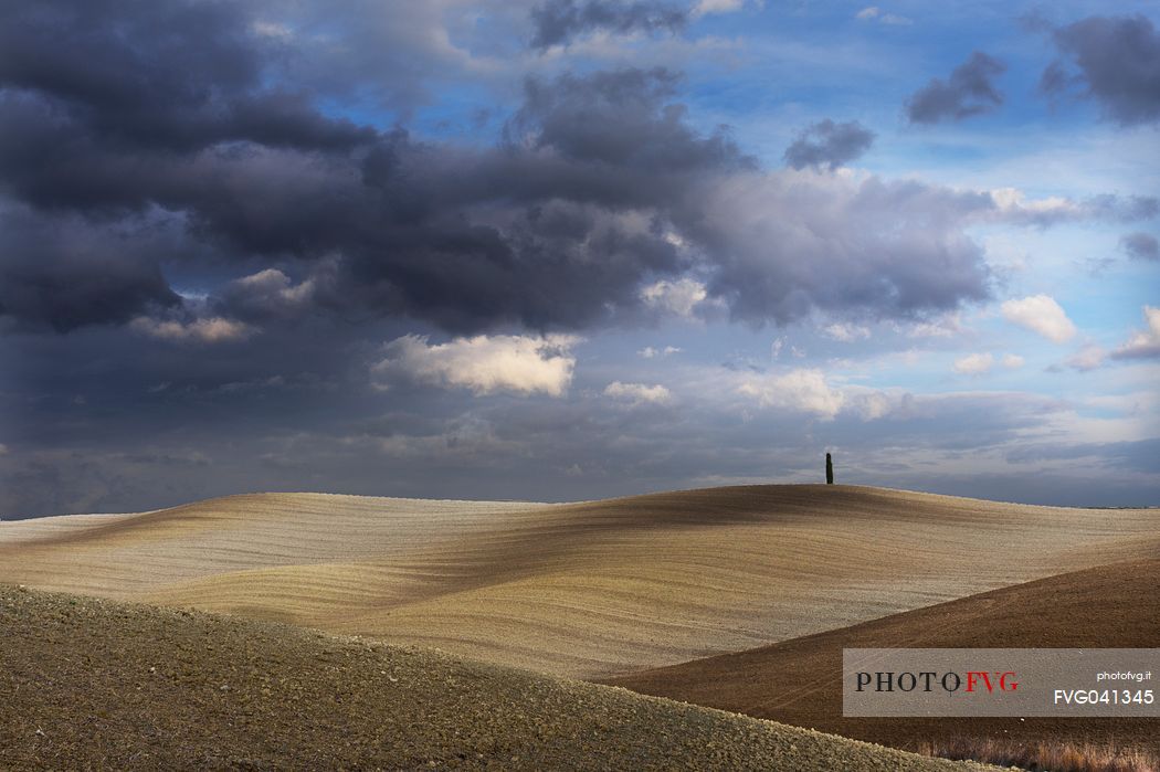
[[1160,7],[0,3],[0,518],[1160,504]]

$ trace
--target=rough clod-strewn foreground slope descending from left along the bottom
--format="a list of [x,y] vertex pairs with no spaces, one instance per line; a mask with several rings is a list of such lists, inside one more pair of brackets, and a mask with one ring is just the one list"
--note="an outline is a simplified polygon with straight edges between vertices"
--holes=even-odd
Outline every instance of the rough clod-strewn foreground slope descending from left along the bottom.
[[978,770],[438,651],[0,585],[2,769]]

